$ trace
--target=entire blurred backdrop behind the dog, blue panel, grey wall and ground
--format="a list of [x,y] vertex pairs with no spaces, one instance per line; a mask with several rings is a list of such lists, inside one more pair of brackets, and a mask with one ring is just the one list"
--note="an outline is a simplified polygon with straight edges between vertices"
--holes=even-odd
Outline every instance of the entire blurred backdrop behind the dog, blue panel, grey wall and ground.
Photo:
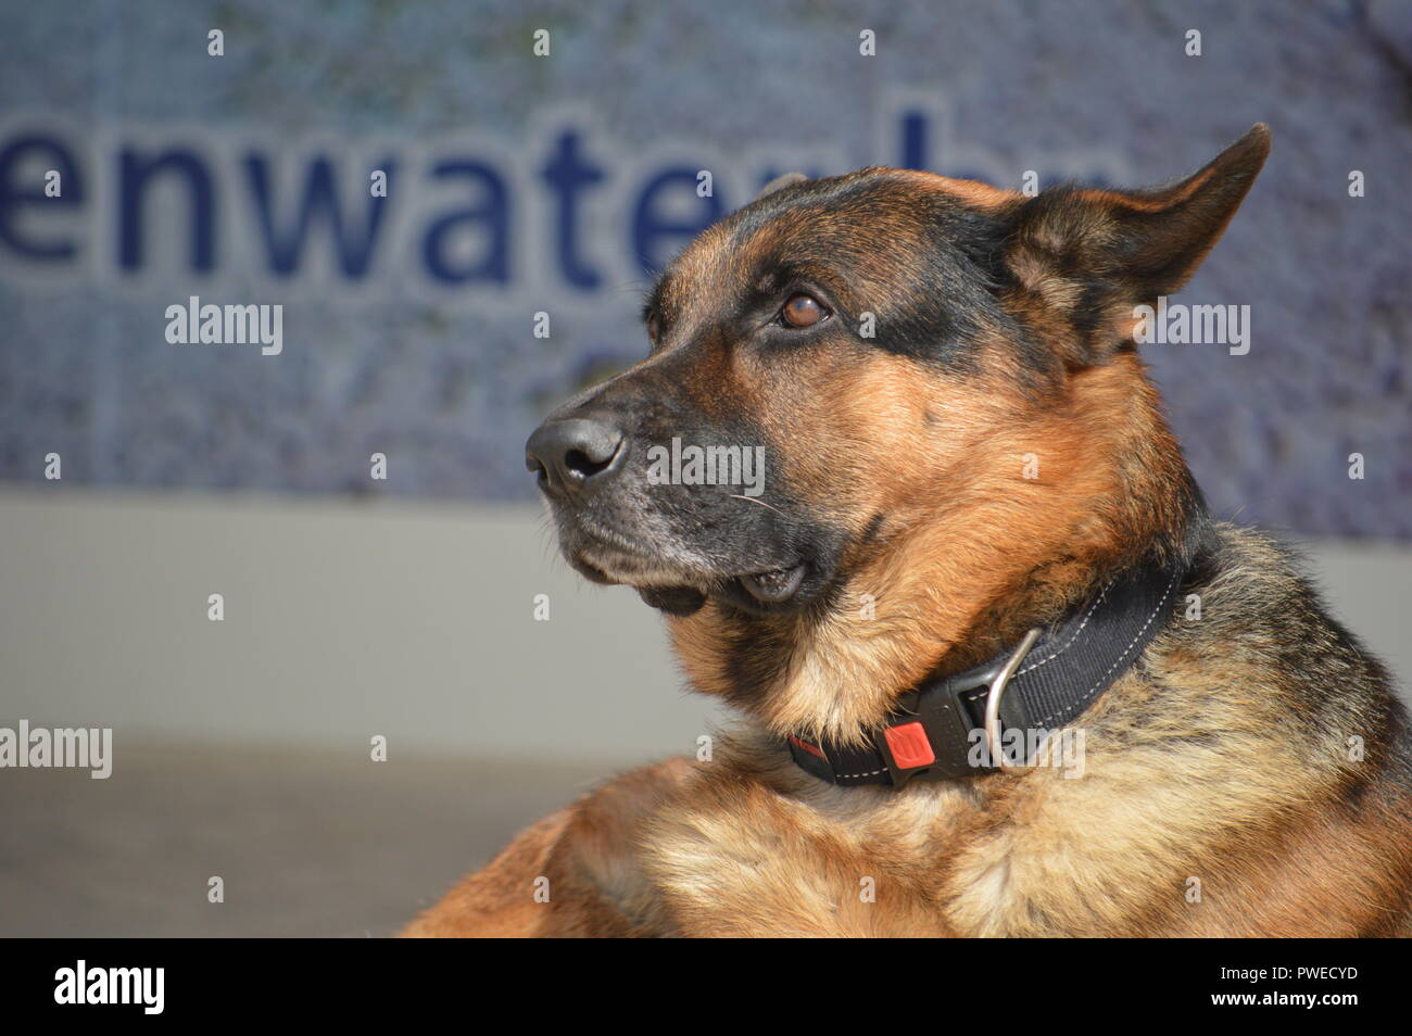
[[[4,0],[0,727],[114,761],[0,769],[0,934],[387,934],[693,751],[522,466],[644,354],[650,271],[791,169],[1145,185],[1261,120],[1179,299],[1250,351],[1147,356],[1213,511],[1412,672],[1408,0]],[[278,354],[172,344],[192,296],[281,305]]]

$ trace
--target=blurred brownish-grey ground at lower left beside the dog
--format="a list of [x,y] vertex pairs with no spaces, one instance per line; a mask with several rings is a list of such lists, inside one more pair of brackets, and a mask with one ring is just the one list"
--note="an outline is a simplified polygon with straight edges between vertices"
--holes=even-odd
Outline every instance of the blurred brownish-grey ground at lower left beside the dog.
[[[393,934],[611,773],[295,749],[127,748],[0,772],[0,937]],[[225,902],[206,898],[212,875]]]

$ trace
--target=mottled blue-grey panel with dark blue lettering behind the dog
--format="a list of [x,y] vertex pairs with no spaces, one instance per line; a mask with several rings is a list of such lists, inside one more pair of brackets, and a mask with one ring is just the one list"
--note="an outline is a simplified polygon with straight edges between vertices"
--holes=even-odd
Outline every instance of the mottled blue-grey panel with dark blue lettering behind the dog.
[[[1412,6],[1385,0],[8,6],[0,478],[42,483],[58,452],[106,487],[527,498],[538,416],[642,353],[640,251],[669,254],[674,222],[791,167],[1156,182],[1265,120],[1271,161],[1180,299],[1248,305],[1251,350],[1148,356],[1217,512],[1409,538],[1409,69]],[[572,191],[562,161],[545,178],[566,134]],[[124,202],[124,155],[174,151],[185,172]],[[17,199],[56,164],[62,202]],[[189,295],[284,305],[282,353],[168,344]]]

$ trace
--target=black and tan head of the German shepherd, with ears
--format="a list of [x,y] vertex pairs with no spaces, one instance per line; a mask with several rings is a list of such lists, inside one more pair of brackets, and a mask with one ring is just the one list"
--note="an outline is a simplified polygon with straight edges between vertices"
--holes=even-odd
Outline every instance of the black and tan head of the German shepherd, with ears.
[[531,436],[565,556],[674,615],[770,618],[1113,541],[1124,471],[1171,446],[1127,438],[1155,412],[1134,308],[1192,274],[1267,151],[1258,126],[1145,192],[772,185],[661,275],[648,356]]

